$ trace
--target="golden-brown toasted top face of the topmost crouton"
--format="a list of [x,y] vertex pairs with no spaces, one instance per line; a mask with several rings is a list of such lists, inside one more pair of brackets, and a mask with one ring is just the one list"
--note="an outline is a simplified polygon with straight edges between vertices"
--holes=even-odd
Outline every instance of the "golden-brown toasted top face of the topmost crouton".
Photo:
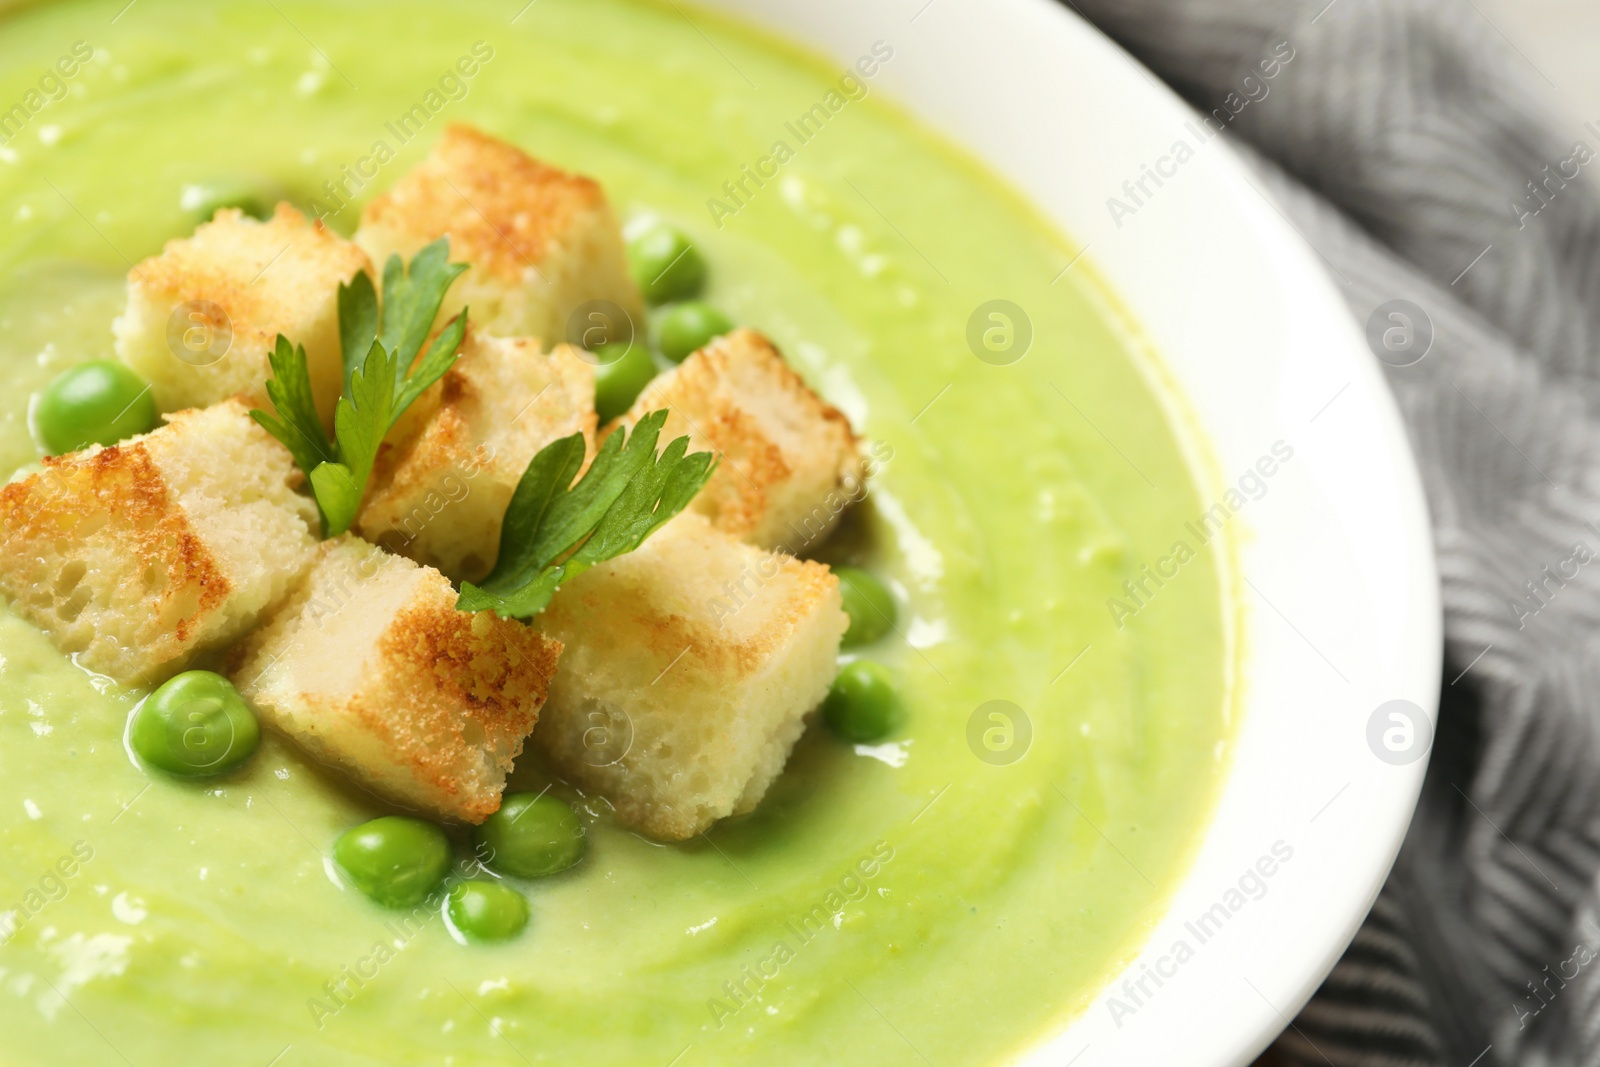
[[603,205],[597,182],[456,123],[427,160],[366,205],[362,224],[448,235],[453,258],[518,280],[574,216]]

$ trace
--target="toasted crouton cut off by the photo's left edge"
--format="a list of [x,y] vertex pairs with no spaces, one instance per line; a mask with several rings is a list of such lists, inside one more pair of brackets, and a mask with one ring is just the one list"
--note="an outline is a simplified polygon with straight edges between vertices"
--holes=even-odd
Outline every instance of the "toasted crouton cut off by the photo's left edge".
[[238,400],[43,464],[0,490],[0,592],[118,681],[234,640],[310,565],[315,506]]

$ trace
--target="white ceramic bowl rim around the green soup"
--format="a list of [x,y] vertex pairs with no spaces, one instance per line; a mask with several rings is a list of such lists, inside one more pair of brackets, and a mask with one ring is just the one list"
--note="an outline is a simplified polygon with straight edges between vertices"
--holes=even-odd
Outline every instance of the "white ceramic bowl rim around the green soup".
[[[965,146],[1086,245],[1195,416],[1197,443],[1211,456],[1200,464],[1208,499],[1274,442],[1294,450],[1267,493],[1230,523],[1246,531],[1237,633],[1245,710],[1194,867],[1144,953],[1022,1059],[1248,1064],[1349,944],[1411,817],[1426,747],[1410,763],[1379,758],[1368,741],[1376,709],[1395,699],[1426,709],[1419,736],[1430,736],[1437,712],[1440,608],[1427,512],[1362,331],[1317,254],[1222,139],[1198,147],[1194,110],[1067,8],[1050,0],[712,6],[840,66],[890,42],[894,62],[874,91]],[[1107,198],[1125,197],[1123,182],[1179,139],[1198,147],[1195,158],[1163,165],[1174,173],[1157,194],[1114,221]],[[1261,875],[1274,846],[1293,854]],[[1178,942],[1192,955],[1174,952]]]

